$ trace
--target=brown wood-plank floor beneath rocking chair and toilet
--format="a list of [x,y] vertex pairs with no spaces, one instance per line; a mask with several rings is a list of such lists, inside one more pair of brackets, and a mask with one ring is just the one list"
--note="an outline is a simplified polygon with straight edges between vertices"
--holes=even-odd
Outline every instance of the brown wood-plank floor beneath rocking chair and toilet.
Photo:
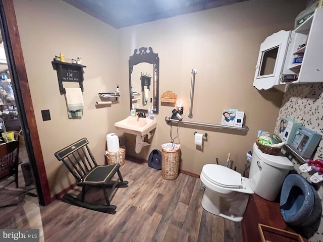
[[[17,206],[0,209],[0,228],[38,228],[40,241],[237,241],[241,223],[206,212],[201,206],[203,190],[198,178],[179,174],[165,180],[161,170],[147,163],[126,160],[121,167],[128,188],[119,188],[112,204],[116,214],[96,212],[60,200],[46,207],[24,193]],[[17,191],[2,189],[5,193]],[[5,191],[5,192],[4,192]],[[78,188],[73,193],[78,192]],[[98,198],[101,191],[89,191]],[[88,199],[86,197],[86,199]]]

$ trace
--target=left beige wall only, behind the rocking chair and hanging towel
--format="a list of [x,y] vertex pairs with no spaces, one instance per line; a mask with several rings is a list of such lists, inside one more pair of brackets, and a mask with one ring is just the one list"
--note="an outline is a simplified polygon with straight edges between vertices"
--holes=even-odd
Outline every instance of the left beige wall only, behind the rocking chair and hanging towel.
[[[86,137],[98,163],[103,164],[106,134],[122,110],[129,113],[128,78],[119,76],[117,30],[82,13],[63,1],[14,1],[27,76],[51,195],[75,183],[53,155],[72,142]],[[84,68],[80,119],[69,119],[57,72],[51,61],[63,52],[65,58],[81,56]],[[65,83],[64,85],[68,85]],[[96,108],[99,92],[114,92],[120,84],[119,103]],[[76,84],[77,85],[77,84]],[[127,94],[127,95],[125,95]],[[49,109],[51,120],[42,121],[41,110]]]

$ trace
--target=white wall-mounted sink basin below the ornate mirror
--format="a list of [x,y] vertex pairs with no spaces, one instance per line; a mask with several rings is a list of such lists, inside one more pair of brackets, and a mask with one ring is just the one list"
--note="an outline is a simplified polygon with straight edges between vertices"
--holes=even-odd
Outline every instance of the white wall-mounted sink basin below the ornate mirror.
[[137,136],[148,135],[150,131],[157,127],[156,118],[128,116],[125,119],[115,123],[116,130]]

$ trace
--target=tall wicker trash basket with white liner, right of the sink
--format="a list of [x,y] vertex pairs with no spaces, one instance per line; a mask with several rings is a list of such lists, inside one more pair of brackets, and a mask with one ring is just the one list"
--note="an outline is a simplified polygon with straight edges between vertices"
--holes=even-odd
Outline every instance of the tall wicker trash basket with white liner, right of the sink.
[[180,164],[180,145],[172,143],[161,145],[161,175],[166,180],[174,180],[178,176]]

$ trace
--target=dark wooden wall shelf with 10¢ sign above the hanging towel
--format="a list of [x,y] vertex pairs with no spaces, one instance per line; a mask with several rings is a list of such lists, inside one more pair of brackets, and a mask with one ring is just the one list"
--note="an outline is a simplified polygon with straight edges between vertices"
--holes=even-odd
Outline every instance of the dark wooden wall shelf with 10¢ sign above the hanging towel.
[[65,93],[63,82],[78,82],[83,92],[83,68],[86,66],[59,61],[52,61],[51,64],[57,71],[61,95]]

